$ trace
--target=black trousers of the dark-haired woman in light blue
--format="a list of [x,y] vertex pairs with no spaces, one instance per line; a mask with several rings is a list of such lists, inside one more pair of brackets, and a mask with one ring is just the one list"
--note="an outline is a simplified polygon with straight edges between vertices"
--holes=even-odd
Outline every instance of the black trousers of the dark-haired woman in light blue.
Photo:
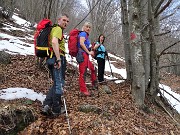
[[104,81],[104,69],[105,69],[105,59],[97,57],[98,63],[98,81]]

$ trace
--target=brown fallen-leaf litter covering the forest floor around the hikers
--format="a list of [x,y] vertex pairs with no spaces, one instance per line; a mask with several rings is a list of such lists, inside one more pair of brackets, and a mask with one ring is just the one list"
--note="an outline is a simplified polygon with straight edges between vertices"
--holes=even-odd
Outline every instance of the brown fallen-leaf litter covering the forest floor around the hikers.
[[[124,68],[124,63],[118,61],[114,64],[117,68]],[[0,89],[9,87],[23,87],[33,89],[36,92],[47,94],[51,86],[48,72],[37,68],[34,56],[14,55],[11,63],[4,67],[5,81]],[[75,71],[75,74],[74,74]],[[89,75],[88,75],[89,77]],[[165,74],[162,83],[179,89],[179,77]],[[172,79],[173,78],[173,79]],[[172,81],[175,80],[175,81]],[[151,108],[151,113],[145,113],[134,104],[130,85],[127,82],[106,84],[112,91],[111,94],[99,90],[91,90],[93,96],[81,97],[79,95],[78,70],[67,65],[66,92],[64,94],[69,115],[72,135],[179,135],[180,127],[159,106],[149,102],[146,105]],[[99,95],[98,95],[99,93]],[[26,99],[19,99],[20,101]],[[3,103],[19,104],[18,100],[4,101]],[[90,104],[98,107],[100,112],[84,113],[79,111],[79,106]],[[40,101],[32,101],[24,106],[33,108],[36,120],[19,132],[19,135],[69,135],[69,126],[66,115],[62,114],[56,118],[41,115],[42,104]],[[180,121],[179,121],[180,122]]]

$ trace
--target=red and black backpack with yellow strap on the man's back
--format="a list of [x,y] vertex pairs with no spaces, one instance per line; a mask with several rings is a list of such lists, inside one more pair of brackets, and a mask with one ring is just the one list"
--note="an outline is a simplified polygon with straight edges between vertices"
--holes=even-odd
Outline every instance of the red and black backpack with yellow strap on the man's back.
[[53,52],[52,47],[49,45],[52,27],[52,22],[49,19],[43,19],[38,23],[34,34],[34,48],[37,57],[48,57]]

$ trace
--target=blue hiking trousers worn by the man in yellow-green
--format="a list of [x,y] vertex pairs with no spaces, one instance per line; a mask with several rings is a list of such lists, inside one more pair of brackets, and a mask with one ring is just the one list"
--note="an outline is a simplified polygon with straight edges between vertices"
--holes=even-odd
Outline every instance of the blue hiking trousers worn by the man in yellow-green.
[[43,102],[43,105],[48,105],[52,107],[52,111],[55,113],[61,112],[61,95],[63,94],[62,91],[62,66],[60,69],[54,68],[54,63],[56,58],[49,58],[47,59],[47,65],[52,74],[53,86],[49,90],[46,98]]

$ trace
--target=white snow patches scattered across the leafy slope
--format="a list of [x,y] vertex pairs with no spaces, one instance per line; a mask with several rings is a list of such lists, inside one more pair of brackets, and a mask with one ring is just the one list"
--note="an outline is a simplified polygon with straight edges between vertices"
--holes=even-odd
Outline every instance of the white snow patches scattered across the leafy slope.
[[[26,30],[30,30],[30,29],[27,29],[27,27],[30,26],[30,23],[27,22],[26,20],[18,17],[17,14],[13,15],[13,19],[15,20],[15,22],[17,24],[26,27]],[[24,31],[24,27],[22,29],[19,29],[19,28],[15,28],[13,26],[9,26],[8,24],[6,24],[6,26],[7,27],[4,28],[6,30],[9,29],[9,30],[22,30],[22,31]],[[22,39],[33,40],[33,36],[20,38],[20,37],[13,37],[13,36],[1,33],[0,38],[4,39],[4,40],[0,40],[0,50],[5,50],[6,52],[11,53],[11,54],[34,55],[34,45],[26,43],[26,42],[24,42],[24,40],[22,41]],[[66,52],[68,53],[67,44],[66,44]],[[110,53],[108,53],[108,56],[113,57],[117,60],[124,61],[123,58],[117,57],[117,56],[110,54]],[[71,58],[68,54],[66,54],[66,58],[70,64],[74,65],[75,67],[78,67],[78,64],[77,64],[75,58]],[[93,62],[97,65],[96,61],[93,61]],[[112,64],[113,62],[114,61],[106,61],[105,71],[111,72],[111,70],[112,70],[113,73],[120,74],[124,79],[126,79],[126,69],[116,68]],[[117,79],[113,76],[105,76],[105,78],[106,79]],[[115,82],[120,83],[120,82],[122,82],[122,80],[117,80]],[[180,95],[172,92],[171,88],[169,88],[168,86],[160,85],[160,87],[167,90],[174,97],[176,97],[178,100],[180,100]],[[172,98],[171,96],[169,96],[169,94],[167,94],[163,91],[161,91],[161,92],[169,100],[169,102],[172,104],[172,106],[174,108],[176,108],[177,111],[180,113],[179,102],[177,100],[175,100],[174,98]],[[36,92],[34,92],[34,90],[27,89],[27,88],[7,88],[7,89],[0,90],[0,99],[12,100],[12,99],[16,99],[16,98],[28,98],[31,100],[39,100],[42,102],[45,99],[45,95],[43,95],[42,93],[36,93]]]

